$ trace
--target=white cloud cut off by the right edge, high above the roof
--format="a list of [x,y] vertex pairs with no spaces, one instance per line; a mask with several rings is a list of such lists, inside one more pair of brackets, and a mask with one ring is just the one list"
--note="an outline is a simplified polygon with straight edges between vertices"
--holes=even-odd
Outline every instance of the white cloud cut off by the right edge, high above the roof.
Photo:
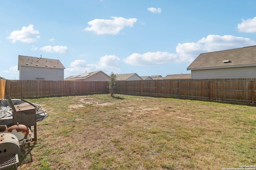
[[255,33],[256,32],[256,17],[248,20],[243,20],[237,25],[239,32]]

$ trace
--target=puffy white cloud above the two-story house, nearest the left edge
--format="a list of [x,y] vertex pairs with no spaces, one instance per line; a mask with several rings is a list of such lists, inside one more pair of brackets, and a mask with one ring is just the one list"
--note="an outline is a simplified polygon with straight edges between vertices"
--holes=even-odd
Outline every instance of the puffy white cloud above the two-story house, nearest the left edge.
[[35,42],[40,36],[39,31],[33,28],[33,25],[28,27],[22,27],[21,30],[12,31],[7,39],[11,39],[13,43],[16,41],[21,41],[23,43],[32,43]]

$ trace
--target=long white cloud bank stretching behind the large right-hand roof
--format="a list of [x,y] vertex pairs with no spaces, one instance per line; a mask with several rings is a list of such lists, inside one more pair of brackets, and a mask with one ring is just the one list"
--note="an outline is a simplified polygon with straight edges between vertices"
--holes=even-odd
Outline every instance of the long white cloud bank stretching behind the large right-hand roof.
[[148,52],[144,54],[134,53],[124,59],[126,64],[138,66],[152,66],[168,63],[190,64],[200,53],[234,49],[256,45],[250,38],[234,37],[232,35],[208,35],[199,41],[192,43],[179,43],[176,53]]

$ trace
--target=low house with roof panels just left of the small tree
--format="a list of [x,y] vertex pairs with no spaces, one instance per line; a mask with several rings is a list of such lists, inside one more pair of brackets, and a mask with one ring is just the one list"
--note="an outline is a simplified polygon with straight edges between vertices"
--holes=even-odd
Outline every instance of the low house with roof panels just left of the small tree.
[[64,80],[80,80],[80,81],[108,81],[110,76],[108,76],[103,71],[85,72],[77,76],[69,76]]

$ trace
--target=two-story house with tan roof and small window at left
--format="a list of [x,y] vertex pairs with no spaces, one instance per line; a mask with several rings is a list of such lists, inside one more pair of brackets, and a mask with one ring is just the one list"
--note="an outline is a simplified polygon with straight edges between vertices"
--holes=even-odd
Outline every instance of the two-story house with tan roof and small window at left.
[[59,60],[18,56],[20,80],[64,80],[64,69]]

